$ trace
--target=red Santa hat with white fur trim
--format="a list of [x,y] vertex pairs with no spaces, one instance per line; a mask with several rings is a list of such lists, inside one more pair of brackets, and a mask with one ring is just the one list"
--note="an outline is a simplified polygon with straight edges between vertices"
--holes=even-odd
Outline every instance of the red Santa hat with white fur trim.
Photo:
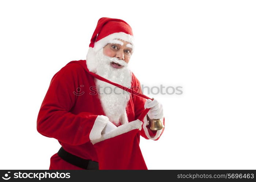
[[87,67],[95,72],[95,54],[114,39],[127,41],[134,51],[134,38],[130,25],[121,19],[102,17],[98,20],[86,56]]

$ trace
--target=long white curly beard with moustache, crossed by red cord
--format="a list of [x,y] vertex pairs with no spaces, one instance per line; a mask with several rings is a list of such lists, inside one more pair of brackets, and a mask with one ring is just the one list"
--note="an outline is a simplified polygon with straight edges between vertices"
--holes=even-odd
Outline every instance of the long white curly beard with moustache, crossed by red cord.
[[[131,71],[128,68],[128,64],[123,60],[117,58],[111,58],[103,54],[103,48],[96,54],[96,74],[108,79],[114,83],[118,83],[122,86],[131,88]],[[122,68],[113,68],[111,62],[116,62],[123,65]],[[96,79],[96,86],[98,88],[99,99],[103,111],[109,120],[118,126],[128,123],[126,106],[130,99],[130,93],[124,91],[121,88],[113,86],[107,82]]]

